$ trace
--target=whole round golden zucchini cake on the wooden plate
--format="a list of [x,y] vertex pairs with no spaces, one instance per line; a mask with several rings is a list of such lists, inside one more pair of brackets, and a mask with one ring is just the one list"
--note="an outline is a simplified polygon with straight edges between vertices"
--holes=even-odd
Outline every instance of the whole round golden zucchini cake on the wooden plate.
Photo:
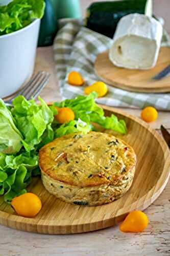
[[65,135],[39,152],[44,187],[77,205],[101,205],[123,196],[132,184],[135,165],[131,146],[99,132]]

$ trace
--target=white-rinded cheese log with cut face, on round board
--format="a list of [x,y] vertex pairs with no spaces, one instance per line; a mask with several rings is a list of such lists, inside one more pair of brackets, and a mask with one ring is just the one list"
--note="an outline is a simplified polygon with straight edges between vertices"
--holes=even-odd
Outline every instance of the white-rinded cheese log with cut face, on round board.
[[120,19],[109,51],[109,59],[127,69],[151,69],[156,65],[162,38],[162,25],[143,14]]

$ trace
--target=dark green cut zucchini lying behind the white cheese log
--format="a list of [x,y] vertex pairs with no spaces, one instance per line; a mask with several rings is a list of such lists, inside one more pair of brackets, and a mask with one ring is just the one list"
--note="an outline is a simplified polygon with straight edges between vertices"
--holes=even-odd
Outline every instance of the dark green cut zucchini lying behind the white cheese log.
[[152,0],[95,2],[87,8],[85,26],[112,38],[119,19],[130,13],[152,16]]

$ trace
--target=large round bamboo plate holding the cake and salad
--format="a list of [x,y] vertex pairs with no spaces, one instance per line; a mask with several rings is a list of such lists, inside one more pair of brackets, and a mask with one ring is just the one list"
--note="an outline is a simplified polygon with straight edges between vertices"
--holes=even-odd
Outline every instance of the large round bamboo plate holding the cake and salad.
[[[29,191],[42,200],[35,218],[17,216],[0,198],[0,223],[11,228],[45,234],[68,234],[98,230],[122,221],[128,212],[143,210],[154,202],[165,187],[170,168],[170,153],[163,138],[147,123],[122,111],[102,106],[105,115],[124,118],[128,134],[117,136],[133,146],[137,155],[135,177],[130,190],[120,199],[101,206],[78,206],[60,201],[43,187],[40,178],[33,179]],[[110,131],[107,131],[110,133]]]

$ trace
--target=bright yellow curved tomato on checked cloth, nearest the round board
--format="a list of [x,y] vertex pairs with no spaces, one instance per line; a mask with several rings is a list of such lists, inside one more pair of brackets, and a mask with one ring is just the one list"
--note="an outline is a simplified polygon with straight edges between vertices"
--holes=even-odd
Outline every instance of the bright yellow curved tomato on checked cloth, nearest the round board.
[[98,93],[98,98],[106,95],[108,89],[104,82],[94,82],[91,86],[84,89],[85,94],[90,94],[91,92]]

